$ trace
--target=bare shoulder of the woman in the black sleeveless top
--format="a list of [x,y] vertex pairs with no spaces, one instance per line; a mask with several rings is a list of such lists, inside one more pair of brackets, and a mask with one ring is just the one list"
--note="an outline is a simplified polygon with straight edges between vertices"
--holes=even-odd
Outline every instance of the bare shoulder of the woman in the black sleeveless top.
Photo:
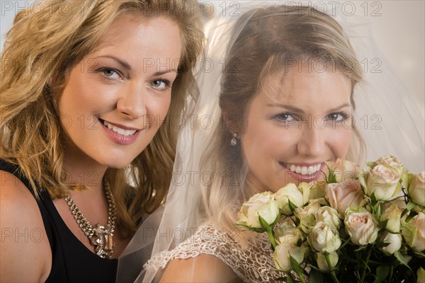
[[44,282],[52,252],[35,198],[21,180],[0,171],[0,282]]

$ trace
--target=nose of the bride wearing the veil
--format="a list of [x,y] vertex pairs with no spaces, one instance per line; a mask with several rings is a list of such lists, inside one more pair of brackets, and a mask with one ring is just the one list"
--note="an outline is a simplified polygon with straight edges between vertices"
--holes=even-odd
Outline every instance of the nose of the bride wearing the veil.
[[[305,127],[304,127],[305,126]],[[326,151],[327,128],[321,129],[314,125],[303,125],[302,134],[297,144],[298,152],[305,156],[320,156]]]

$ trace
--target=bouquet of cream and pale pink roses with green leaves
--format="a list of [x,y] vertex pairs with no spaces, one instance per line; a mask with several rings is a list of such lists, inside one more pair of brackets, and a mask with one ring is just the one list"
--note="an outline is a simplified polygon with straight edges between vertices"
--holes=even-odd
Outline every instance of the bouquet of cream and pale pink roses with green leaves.
[[278,279],[425,282],[425,171],[409,173],[394,156],[363,170],[343,160],[327,167],[324,182],[262,192],[240,209],[237,225],[271,241],[287,274]]

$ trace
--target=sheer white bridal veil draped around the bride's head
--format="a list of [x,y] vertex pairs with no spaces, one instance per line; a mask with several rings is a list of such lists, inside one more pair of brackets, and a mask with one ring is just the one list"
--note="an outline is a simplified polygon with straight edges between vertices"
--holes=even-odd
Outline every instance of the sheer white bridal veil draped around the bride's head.
[[[308,4],[307,1],[229,1],[205,28],[208,41],[198,60],[198,99],[188,101],[187,114],[181,119],[174,176],[166,204],[149,215],[120,256],[117,282],[152,282],[156,267],[142,271],[142,265],[164,250],[171,250],[193,235],[203,221],[198,211],[203,206],[200,185],[208,182],[210,172],[200,172],[200,158],[220,125],[218,103],[222,68],[227,52],[244,23],[235,27],[239,16],[272,4]],[[346,16],[338,5],[328,10],[342,26],[356,55],[363,64],[363,82],[356,86],[355,122],[366,144],[364,161],[394,155],[410,171],[424,170],[424,116],[412,93],[404,88],[375,45],[367,19]],[[225,11],[225,12],[223,12]],[[246,16],[246,21],[249,16]],[[266,44],[266,42],[265,42]]]

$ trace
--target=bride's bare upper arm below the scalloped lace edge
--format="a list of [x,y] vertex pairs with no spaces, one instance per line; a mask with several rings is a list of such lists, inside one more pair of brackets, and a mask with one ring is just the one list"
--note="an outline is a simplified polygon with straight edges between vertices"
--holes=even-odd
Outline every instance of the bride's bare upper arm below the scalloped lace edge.
[[242,282],[232,268],[214,255],[171,260],[161,282]]

